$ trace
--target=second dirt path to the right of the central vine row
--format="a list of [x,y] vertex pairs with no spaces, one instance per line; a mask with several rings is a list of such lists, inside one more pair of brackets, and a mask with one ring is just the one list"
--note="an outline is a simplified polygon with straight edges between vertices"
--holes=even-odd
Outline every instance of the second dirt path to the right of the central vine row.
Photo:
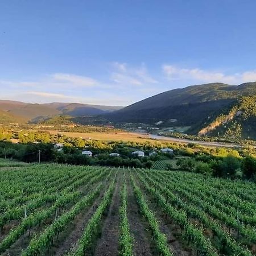
[[[138,185],[139,182],[137,182]],[[192,256],[196,255],[188,245],[181,242],[182,230],[177,226],[170,218],[166,217],[166,214],[162,209],[157,205],[157,202],[152,199],[152,197],[146,192],[143,186],[139,186],[143,192],[144,199],[147,200],[147,203],[150,209],[154,210],[155,217],[159,222],[160,230],[166,235],[168,246],[170,250],[177,256]]]

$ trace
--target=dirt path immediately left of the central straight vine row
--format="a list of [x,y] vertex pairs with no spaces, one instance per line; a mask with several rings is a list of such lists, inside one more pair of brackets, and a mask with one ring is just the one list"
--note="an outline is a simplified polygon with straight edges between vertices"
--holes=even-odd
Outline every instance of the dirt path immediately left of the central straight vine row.
[[101,238],[97,241],[94,255],[110,256],[118,255],[118,236],[119,236],[119,207],[121,204],[122,172],[117,174],[117,183],[112,197],[108,215],[102,227]]

